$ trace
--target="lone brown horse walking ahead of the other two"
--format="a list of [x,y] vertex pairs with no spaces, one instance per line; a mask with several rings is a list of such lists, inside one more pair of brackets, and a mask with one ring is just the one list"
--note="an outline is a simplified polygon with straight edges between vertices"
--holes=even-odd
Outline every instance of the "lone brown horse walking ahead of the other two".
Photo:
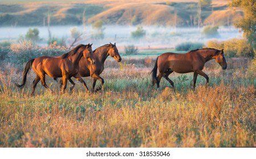
[[[197,75],[206,78],[206,85],[209,83],[209,77],[207,74],[202,72],[204,69],[205,62],[215,59],[218,62],[222,69],[227,68],[226,58],[223,52],[223,49],[217,50],[213,48],[204,48],[190,51],[188,53],[172,53],[166,52],[157,57],[156,64],[152,73],[152,84],[153,86],[157,83],[157,90],[160,87],[160,80],[162,76],[174,87],[174,83],[170,78],[169,74],[172,72],[177,73],[189,73],[194,72],[193,78],[193,89],[196,87]],[[156,77],[157,68],[159,69],[159,75]]]

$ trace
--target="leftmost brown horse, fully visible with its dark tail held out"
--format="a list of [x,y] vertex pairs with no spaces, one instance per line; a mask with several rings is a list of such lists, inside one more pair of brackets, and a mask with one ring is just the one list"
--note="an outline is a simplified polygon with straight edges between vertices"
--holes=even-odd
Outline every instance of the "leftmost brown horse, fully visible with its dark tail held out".
[[58,78],[62,77],[63,86],[62,93],[67,87],[67,79],[70,77],[75,77],[76,80],[83,83],[84,87],[88,91],[86,82],[79,74],[79,61],[84,56],[91,64],[95,63],[94,53],[92,52],[92,44],[83,45],[80,44],[76,48],[72,49],[70,52],[59,56],[59,57],[50,57],[50,56],[41,56],[37,58],[32,58],[27,62],[25,69],[23,70],[23,80],[22,84],[16,86],[23,87],[26,83],[27,73],[31,69],[31,66],[36,73],[35,80],[32,85],[32,93],[34,95],[35,87],[37,83],[41,80],[42,85],[52,92],[52,90],[46,85],[45,77],[46,74],[50,77]]

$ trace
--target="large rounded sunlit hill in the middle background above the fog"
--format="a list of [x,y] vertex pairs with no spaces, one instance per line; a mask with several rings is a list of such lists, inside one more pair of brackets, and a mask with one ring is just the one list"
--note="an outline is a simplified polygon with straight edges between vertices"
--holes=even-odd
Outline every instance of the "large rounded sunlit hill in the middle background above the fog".
[[174,9],[171,6],[152,3],[129,3],[112,7],[88,19],[89,23],[103,20],[107,24],[131,24],[136,17],[138,24],[173,24]]

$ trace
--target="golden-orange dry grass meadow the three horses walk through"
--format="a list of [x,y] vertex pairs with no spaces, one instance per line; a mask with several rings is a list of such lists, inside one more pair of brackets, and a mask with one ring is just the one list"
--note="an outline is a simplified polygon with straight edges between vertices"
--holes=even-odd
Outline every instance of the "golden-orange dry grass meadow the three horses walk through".
[[[148,60],[149,59],[149,60]],[[22,73],[0,69],[0,147],[256,147],[255,73],[247,58],[215,61],[204,71],[210,83],[192,74],[173,73],[175,89],[162,79],[151,86],[155,58],[108,58],[101,74],[104,90],[87,94],[76,82],[74,92],[52,95],[40,84],[30,97],[32,71],[24,89],[14,86]],[[91,78],[85,78],[91,87]],[[68,87],[70,84],[68,85]]]

